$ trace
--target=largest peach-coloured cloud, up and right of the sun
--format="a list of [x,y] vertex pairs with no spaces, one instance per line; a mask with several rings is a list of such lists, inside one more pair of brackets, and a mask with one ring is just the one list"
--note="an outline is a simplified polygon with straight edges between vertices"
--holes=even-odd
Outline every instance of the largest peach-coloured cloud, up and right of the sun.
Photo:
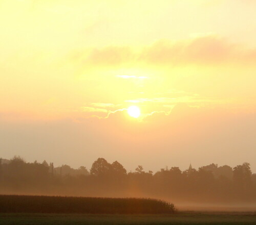
[[144,49],[140,60],[161,64],[223,64],[251,62],[255,50],[245,49],[215,35],[170,42],[160,40]]

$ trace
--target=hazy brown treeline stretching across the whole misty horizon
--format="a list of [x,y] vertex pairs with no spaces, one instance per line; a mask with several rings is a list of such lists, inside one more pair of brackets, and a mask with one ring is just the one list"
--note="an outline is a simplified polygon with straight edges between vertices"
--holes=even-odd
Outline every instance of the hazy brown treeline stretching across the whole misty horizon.
[[2,160],[0,194],[42,194],[102,197],[154,197],[176,202],[255,203],[256,174],[249,163],[234,168],[210,164],[164,168],[156,173],[138,166],[128,172],[117,161],[97,159],[90,172],[46,161],[26,163],[20,157]]

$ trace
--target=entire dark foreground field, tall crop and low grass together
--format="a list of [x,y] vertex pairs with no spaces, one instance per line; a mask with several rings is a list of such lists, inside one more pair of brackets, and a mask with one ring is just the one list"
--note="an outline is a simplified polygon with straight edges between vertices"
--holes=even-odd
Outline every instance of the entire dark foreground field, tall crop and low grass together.
[[256,225],[255,212],[178,212],[146,198],[0,195],[0,225]]

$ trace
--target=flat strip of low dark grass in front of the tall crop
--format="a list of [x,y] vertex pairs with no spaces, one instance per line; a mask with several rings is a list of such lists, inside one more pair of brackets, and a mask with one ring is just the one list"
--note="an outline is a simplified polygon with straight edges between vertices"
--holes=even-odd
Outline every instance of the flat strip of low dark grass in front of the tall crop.
[[172,215],[0,214],[0,225],[252,225],[253,213],[176,213]]

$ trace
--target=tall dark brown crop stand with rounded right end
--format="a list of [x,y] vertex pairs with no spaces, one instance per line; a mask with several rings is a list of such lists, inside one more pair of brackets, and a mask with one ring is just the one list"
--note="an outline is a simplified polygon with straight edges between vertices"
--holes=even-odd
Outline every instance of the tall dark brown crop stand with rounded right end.
[[0,213],[171,214],[173,204],[150,198],[0,195]]

